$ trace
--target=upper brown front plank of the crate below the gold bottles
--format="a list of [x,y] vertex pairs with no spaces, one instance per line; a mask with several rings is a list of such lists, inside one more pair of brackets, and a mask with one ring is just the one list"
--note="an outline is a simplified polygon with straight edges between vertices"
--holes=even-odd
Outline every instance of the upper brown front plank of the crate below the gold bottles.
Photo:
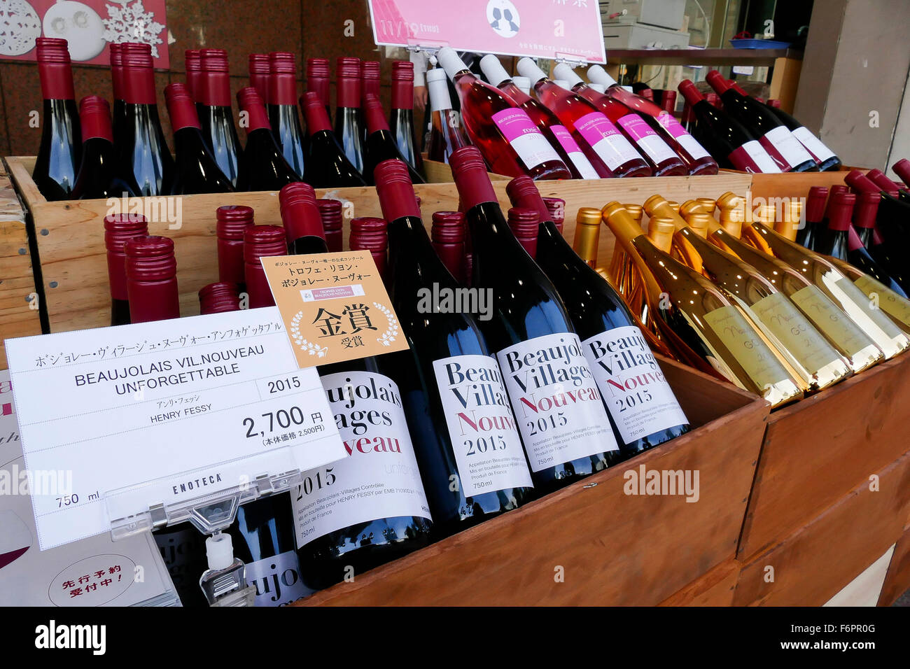
[[910,355],[774,411],[738,558],[748,560],[910,450],[907,398]]

